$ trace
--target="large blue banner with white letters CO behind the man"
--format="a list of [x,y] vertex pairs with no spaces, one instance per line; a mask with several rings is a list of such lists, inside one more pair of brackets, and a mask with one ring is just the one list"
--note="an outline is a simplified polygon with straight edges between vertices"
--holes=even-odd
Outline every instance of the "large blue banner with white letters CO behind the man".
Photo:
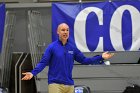
[[69,41],[82,52],[140,51],[140,2],[52,4],[52,41],[57,26],[70,27]]

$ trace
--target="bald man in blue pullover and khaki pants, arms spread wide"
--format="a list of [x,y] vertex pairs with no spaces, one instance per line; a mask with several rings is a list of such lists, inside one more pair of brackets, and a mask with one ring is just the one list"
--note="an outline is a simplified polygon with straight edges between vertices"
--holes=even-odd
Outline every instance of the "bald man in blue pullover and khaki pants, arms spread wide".
[[61,23],[57,28],[59,39],[48,46],[41,61],[31,72],[23,73],[22,80],[30,80],[41,72],[45,66],[48,71],[49,93],[74,93],[72,69],[74,60],[81,64],[101,64],[104,59],[111,58],[114,54],[105,52],[100,56],[87,58],[69,41],[69,26]]

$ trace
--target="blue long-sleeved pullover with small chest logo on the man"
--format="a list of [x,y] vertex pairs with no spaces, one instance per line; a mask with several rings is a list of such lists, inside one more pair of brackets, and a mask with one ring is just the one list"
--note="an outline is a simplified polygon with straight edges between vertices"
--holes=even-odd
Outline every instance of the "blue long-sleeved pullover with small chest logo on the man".
[[36,76],[46,66],[49,66],[48,84],[74,85],[72,79],[74,60],[81,64],[100,64],[100,61],[104,59],[102,56],[87,58],[71,43],[67,42],[63,45],[60,40],[57,40],[48,46],[41,61],[31,73]]

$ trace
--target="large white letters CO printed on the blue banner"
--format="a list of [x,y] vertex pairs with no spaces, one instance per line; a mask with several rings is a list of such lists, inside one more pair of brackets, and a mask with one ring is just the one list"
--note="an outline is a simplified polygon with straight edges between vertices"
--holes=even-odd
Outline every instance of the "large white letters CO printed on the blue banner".
[[[122,15],[125,10],[128,10],[131,14],[132,19],[132,51],[139,50],[140,48],[140,12],[131,5],[123,5],[117,8],[114,12],[111,22],[110,22],[110,40],[113,48],[116,51],[125,51],[123,48],[122,41]],[[103,10],[97,7],[87,7],[83,9],[76,17],[74,23],[74,38],[76,46],[79,50],[83,52],[90,52],[86,43],[86,18],[89,13],[95,12],[99,25],[103,25]],[[94,38],[94,37],[93,37]],[[103,39],[104,37],[99,37],[99,44],[95,51],[103,51]],[[109,42],[109,41],[108,41]]]

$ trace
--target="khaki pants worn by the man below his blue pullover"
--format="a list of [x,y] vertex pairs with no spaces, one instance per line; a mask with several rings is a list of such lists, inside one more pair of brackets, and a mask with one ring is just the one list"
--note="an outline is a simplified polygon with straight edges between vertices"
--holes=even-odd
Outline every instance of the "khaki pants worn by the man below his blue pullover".
[[48,91],[49,93],[74,93],[74,86],[54,83],[49,84]]

